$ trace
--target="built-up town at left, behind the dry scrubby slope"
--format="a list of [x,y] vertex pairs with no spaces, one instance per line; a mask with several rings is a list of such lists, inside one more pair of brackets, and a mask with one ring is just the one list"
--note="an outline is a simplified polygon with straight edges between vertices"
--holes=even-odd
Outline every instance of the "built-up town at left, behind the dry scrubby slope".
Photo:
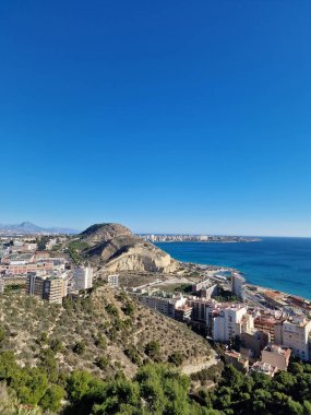
[[0,238],[0,294],[23,289],[27,295],[62,304],[68,295],[92,288],[93,269],[70,258],[65,236]]

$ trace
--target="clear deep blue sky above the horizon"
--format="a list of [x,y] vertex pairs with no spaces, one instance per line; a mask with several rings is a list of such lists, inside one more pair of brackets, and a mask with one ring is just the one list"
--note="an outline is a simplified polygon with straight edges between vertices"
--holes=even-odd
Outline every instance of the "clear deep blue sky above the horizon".
[[310,0],[2,0],[0,223],[311,236]]

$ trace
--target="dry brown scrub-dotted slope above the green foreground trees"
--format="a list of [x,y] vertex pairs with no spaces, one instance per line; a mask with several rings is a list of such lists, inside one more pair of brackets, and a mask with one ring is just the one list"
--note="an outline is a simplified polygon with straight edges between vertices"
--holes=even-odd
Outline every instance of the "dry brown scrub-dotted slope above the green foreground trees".
[[23,294],[0,296],[2,349],[14,351],[17,363],[39,365],[51,349],[57,370],[88,370],[100,378],[122,370],[134,376],[144,361],[204,364],[207,342],[184,324],[136,304],[107,285],[84,299],[49,305]]

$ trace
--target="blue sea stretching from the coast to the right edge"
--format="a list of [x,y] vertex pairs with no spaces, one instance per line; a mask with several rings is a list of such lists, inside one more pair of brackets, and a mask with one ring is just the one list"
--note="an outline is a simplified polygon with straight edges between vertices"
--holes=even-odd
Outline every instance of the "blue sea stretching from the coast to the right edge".
[[160,242],[183,262],[224,265],[244,274],[248,283],[311,299],[311,238],[262,238],[259,242]]

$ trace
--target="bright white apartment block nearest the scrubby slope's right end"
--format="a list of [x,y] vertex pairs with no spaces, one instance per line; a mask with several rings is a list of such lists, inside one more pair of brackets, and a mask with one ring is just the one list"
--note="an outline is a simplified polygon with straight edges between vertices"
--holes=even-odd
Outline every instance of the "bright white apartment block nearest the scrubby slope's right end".
[[236,335],[240,335],[242,319],[247,311],[247,307],[239,304],[220,309],[218,316],[213,319],[213,339],[218,342],[229,342]]

